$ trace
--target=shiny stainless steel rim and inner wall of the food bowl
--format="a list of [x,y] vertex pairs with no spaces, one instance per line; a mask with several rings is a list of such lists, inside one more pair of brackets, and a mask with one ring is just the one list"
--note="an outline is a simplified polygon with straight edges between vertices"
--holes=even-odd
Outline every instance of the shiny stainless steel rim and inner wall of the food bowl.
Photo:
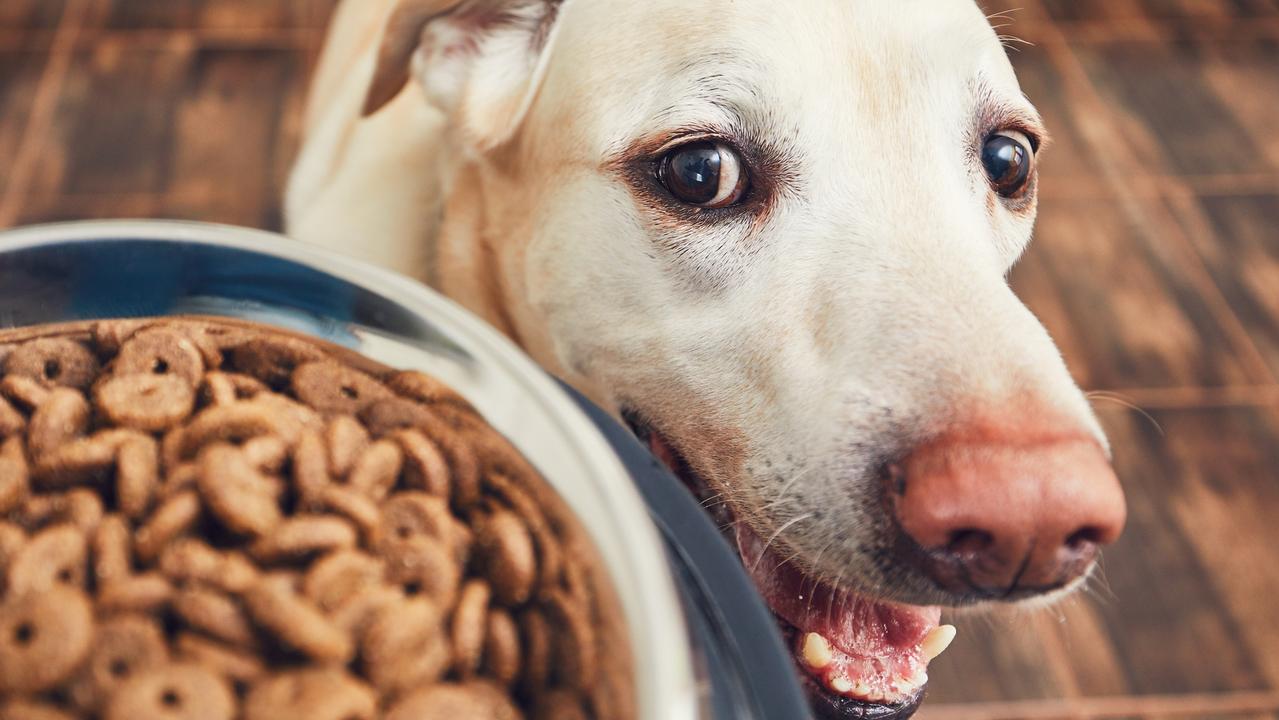
[[489,325],[412,280],[271,233],[150,220],[0,233],[0,327],[179,313],[310,333],[453,385],[595,540],[629,625],[638,717],[702,716],[686,618],[643,501],[587,416]]

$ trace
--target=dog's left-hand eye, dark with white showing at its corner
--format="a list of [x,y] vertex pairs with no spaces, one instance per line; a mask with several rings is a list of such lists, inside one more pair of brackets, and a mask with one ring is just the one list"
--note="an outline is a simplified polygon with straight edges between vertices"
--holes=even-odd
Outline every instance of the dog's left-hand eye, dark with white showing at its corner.
[[657,179],[675,200],[697,207],[728,207],[746,194],[742,159],[720,142],[700,141],[677,147],[661,159]]

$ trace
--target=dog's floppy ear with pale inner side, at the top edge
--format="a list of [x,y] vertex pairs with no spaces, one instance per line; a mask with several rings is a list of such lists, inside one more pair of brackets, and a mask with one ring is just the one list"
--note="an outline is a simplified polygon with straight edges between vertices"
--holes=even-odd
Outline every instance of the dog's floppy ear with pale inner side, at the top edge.
[[523,120],[561,0],[400,0],[365,100],[371,115],[417,75],[427,98],[480,150]]

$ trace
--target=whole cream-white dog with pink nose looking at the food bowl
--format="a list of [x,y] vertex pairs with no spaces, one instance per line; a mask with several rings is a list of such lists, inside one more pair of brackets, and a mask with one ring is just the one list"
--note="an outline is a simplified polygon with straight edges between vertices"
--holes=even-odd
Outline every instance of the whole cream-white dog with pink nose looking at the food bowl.
[[347,0],[288,230],[416,275],[726,528],[820,717],[1078,588],[1109,446],[1007,274],[1046,141],[971,1]]

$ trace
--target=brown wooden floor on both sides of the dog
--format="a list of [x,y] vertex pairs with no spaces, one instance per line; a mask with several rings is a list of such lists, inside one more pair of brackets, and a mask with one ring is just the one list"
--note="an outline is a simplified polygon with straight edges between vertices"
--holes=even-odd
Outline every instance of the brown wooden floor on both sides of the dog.
[[[0,0],[0,226],[278,228],[330,5]],[[959,618],[921,716],[1276,719],[1279,0],[1009,5],[1055,137],[1014,280],[1132,518],[1088,595]]]

